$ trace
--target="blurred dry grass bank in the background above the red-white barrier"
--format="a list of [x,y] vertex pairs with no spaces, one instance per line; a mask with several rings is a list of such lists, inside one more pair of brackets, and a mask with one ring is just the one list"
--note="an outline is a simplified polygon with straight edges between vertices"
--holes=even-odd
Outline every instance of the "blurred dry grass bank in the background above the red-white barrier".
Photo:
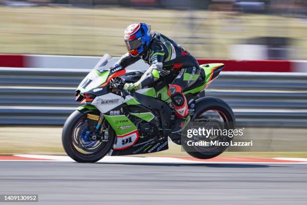
[[[194,56],[232,58],[232,44],[244,39],[291,38],[291,57],[307,59],[306,23],[286,17],[220,12],[127,8],[0,7],[0,53],[120,56],[124,28],[151,24]],[[193,38],[191,38],[193,37]]]

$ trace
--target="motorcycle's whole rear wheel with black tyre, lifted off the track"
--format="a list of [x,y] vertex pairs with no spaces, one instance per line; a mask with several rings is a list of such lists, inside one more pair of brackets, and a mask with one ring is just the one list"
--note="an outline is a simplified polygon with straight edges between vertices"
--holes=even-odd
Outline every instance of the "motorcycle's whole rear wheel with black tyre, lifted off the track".
[[[196,113],[192,121],[187,125],[183,133],[182,146],[184,150],[191,156],[199,159],[210,159],[223,153],[227,149],[232,138],[220,134],[204,137],[202,135],[193,136],[193,138],[187,137],[188,130],[198,130],[199,128],[205,128],[206,130],[234,130],[235,129],[235,117],[228,106],[228,104],[215,97],[202,97],[196,101]],[[213,133],[213,132],[212,132]],[[185,135],[186,134],[186,135]],[[190,136],[191,137],[191,136]],[[188,141],[190,142],[188,143]],[[194,145],[201,141],[207,141],[207,145],[191,146],[192,141]],[[224,143],[223,146],[211,143],[218,142]],[[203,143],[204,144],[204,143]],[[225,146],[226,145],[226,146]]]

